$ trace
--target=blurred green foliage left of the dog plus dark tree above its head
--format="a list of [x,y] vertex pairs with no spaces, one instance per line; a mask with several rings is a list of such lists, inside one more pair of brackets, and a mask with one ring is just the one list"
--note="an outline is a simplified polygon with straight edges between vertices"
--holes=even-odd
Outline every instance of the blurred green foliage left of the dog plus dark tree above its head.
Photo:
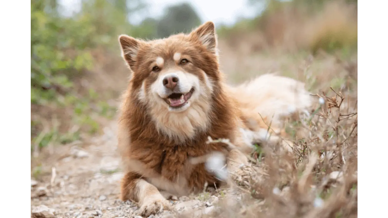
[[78,140],[80,132],[100,129],[99,118],[114,116],[107,100],[118,96],[106,97],[82,80],[99,64],[96,53],[98,60],[121,59],[118,35],[159,38],[201,22],[190,5],[182,4],[168,8],[160,20],[130,24],[132,15],[146,9],[142,0],[82,0],[80,11],[65,17],[56,0],[31,0],[29,100],[35,146]]

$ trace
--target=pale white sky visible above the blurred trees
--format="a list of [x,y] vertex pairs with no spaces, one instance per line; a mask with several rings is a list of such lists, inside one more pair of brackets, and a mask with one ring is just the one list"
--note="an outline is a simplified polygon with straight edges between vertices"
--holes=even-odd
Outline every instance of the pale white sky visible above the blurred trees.
[[[253,18],[258,13],[258,8],[250,7],[248,0],[145,0],[145,2],[149,5],[147,14],[130,17],[132,24],[139,24],[147,17],[160,17],[163,15],[163,9],[182,2],[191,3],[203,22],[213,21],[227,26],[233,25],[239,18]],[[62,12],[65,15],[70,15],[72,11],[80,8],[80,0],[59,0],[59,3],[64,7]]]

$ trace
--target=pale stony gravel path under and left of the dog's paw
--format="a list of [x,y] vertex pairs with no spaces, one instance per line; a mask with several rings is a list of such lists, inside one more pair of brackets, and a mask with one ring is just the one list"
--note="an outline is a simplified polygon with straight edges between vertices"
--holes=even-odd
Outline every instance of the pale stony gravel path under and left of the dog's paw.
[[[136,217],[138,207],[122,202],[120,193],[120,158],[116,152],[115,123],[104,134],[93,138],[90,145],[64,145],[44,160],[43,175],[29,180],[30,217]],[[81,146],[82,145],[82,146]],[[174,217],[190,213],[210,213],[218,197],[210,194],[181,197],[175,211],[165,211],[150,217]],[[192,211],[194,209],[194,211]]]

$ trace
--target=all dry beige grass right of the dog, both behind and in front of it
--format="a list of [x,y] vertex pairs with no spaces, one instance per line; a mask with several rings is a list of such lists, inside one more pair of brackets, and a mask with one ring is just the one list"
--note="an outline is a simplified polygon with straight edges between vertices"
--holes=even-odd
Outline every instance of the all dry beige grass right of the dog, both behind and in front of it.
[[[304,81],[316,104],[310,116],[285,122],[294,143],[260,144],[249,166],[232,172],[230,189],[200,217],[358,217],[358,54],[315,57],[233,50],[220,40],[221,67],[229,82],[279,72]],[[270,124],[268,124],[270,125]],[[197,217],[184,213],[179,217]]]

